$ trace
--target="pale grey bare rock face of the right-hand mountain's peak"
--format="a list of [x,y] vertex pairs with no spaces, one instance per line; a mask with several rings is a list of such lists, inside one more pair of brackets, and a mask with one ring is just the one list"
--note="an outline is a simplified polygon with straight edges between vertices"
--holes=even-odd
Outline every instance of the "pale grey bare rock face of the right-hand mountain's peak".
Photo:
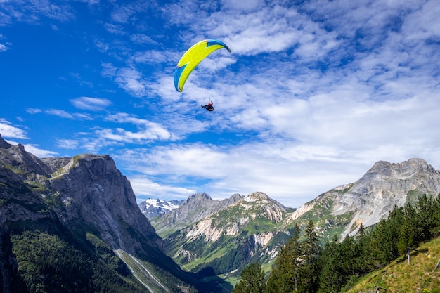
[[394,205],[415,202],[420,195],[440,193],[440,172],[424,159],[399,164],[377,162],[347,193],[335,201],[333,214],[354,211],[345,235],[357,231],[356,225],[370,226],[388,216]]

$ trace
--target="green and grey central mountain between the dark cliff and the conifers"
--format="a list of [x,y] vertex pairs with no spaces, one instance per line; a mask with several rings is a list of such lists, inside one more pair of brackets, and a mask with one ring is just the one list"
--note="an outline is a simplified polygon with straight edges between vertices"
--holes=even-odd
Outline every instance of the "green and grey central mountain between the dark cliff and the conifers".
[[276,256],[290,234],[282,229],[283,221],[293,211],[261,192],[223,201],[203,193],[152,223],[179,227],[174,232],[157,230],[168,233],[164,236],[166,252],[183,268],[200,275],[237,276],[248,263],[268,262]]

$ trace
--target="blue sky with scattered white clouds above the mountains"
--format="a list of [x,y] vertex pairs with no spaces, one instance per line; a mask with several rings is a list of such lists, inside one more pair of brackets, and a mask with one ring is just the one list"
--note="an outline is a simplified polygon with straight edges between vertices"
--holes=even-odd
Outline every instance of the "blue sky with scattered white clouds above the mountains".
[[[203,39],[232,53],[179,93]],[[108,154],[138,202],[300,207],[377,161],[440,168],[439,52],[436,0],[0,0],[0,134],[38,157]]]

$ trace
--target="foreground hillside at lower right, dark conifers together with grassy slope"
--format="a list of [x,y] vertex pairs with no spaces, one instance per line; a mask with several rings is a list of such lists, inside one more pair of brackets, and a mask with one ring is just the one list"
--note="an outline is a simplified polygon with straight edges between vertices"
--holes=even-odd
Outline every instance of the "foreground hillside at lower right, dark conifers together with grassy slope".
[[342,242],[335,236],[323,247],[310,220],[304,229],[295,227],[268,278],[252,263],[233,293],[439,292],[439,235],[440,195],[395,206],[375,226],[361,226]]

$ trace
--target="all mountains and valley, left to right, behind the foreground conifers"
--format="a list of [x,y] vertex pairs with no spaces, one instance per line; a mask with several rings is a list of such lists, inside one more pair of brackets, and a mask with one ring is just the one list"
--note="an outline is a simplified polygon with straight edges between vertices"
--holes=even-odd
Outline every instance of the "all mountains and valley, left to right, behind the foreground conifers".
[[231,292],[249,263],[270,271],[296,224],[313,220],[324,243],[439,192],[440,172],[409,159],[299,209],[262,192],[200,193],[143,214],[108,155],[39,159],[0,136],[0,292]]

